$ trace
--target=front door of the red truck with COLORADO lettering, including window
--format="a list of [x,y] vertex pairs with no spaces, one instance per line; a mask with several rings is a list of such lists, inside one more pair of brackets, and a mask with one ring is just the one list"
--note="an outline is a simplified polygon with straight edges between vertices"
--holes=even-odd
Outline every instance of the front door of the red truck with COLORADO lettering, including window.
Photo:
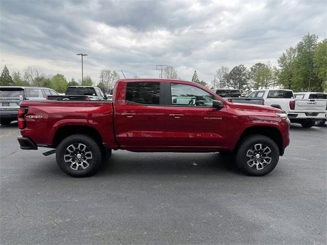
[[212,107],[214,95],[202,88],[166,83],[167,144],[180,150],[223,146],[227,133],[226,107]]

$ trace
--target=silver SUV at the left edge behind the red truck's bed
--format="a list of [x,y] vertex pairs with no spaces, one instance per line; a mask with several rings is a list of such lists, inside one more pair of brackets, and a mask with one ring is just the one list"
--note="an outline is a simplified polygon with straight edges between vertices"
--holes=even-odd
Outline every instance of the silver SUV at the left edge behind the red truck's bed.
[[48,95],[57,95],[57,92],[46,87],[0,87],[0,124],[9,125],[17,120],[19,103],[23,100],[45,100]]

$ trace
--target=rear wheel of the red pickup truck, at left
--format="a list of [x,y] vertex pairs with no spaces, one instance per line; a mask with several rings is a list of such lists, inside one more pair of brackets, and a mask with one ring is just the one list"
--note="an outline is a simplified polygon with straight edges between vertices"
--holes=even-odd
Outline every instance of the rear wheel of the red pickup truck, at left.
[[57,147],[56,160],[64,173],[72,177],[95,174],[102,163],[100,145],[84,134],[68,136]]

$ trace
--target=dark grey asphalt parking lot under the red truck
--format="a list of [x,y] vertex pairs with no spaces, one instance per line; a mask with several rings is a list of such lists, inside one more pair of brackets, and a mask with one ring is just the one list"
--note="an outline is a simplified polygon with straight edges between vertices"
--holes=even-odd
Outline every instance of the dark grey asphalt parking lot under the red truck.
[[113,152],[90,178],[0,126],[1,244],[326,244],[327,128],[293,124],[275,170],[218,153]]

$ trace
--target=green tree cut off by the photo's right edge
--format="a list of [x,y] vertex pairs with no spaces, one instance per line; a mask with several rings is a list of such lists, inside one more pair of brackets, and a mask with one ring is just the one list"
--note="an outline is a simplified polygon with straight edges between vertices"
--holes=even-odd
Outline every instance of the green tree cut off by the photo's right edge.
[[320,42],[313,55],[314,71],[318,78],[319,91],[324,91],[327,83],[327,39]]

